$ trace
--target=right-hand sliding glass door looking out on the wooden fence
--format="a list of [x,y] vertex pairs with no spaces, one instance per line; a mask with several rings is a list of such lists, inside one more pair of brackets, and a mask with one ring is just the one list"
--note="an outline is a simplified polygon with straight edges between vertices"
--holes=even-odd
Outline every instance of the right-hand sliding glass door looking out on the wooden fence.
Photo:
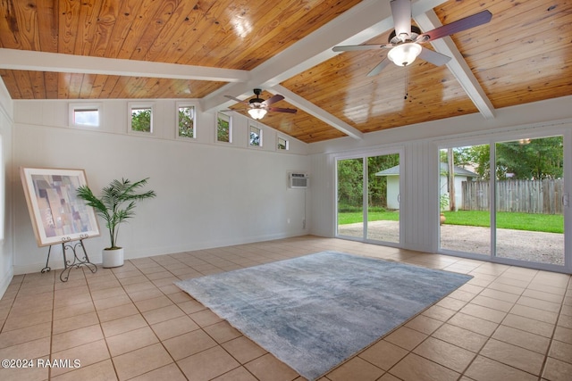
[[564,266],[564,142],[556,136],[443,148],[440,248],[536,268]]

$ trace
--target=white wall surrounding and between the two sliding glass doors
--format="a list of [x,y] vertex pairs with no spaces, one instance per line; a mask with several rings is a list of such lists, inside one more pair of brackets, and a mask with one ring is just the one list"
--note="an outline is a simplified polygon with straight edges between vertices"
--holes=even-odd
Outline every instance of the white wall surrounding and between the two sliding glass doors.
[[[562,134],[572,130],[572,96],[497,110],[493,120],[480,114],[385,129],[357,140],[342,137],[309,145],[312,181],[312,228],[318,236],[335,235],[336,157],[403,148],[400,189],[402,246],[436,253],[438,250],[438,178],[440,146],[487,141],[494,137],[520,138]],[[570,134],[568,134],[568,137]],[[568,139],[567,137],[567,139]],[[453,143],[451,143],[453,142]],[[569,150],[572,142],[565,144]],[[568,236],[572,236],[569,234]]]

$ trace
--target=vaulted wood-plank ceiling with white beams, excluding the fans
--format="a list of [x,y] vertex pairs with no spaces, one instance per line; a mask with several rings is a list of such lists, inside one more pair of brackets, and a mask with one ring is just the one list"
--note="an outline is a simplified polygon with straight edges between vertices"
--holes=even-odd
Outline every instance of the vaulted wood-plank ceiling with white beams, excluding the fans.
[[[367,77],[393,29],[389,0],[4,0],[0,75],[13,99],[196,98],[244,112],[281,94],[263,123],[313,143],[572,95],[568,0],[413,0],[422,31],[489,10],[492,21],[426,44],[417,59]],[[407,99],[406,99],[407,93]]]

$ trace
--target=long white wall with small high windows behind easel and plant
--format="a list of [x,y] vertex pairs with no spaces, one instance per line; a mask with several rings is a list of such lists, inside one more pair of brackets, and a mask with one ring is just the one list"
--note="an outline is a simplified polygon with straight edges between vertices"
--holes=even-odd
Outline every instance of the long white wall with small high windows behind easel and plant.
[[[157,197],[139,203],[120,230],[126,258],[307,234],[309,193],[288,188],[290,171],[308,172],[306,144],[289,138],[290,151],[276,151],[276,131],[261,125],[263,147],[248,147],[248,119],[237,114],[232,144],[215,143],[214,113],[199,115],[196,141],[183,141],[176,102],[154,103],[154,134],[141,137],[127,133],[124,100],[102,103],[103,128],[69,127],[67,102],[14,101],[13,169],[84,169],[96,194],[114,178],[150,178],[146,189]],[[38,271],[47,248],[36,244],[19,178],[13,198],[14,272]],[[85,242],[94,262],[108,245],[101,221],[100,229]],[[52,268],[62,267],[61,248],[52,253]]]

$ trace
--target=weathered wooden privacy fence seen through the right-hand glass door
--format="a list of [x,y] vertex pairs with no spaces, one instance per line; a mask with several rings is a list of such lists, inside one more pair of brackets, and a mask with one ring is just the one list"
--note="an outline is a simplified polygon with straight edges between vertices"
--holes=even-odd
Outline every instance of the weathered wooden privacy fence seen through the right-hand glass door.
[[[464,211],[490,211],[490,183],[463,181]],[[559,179],[497,181],[497,211],[562,214],[564,183]]]

